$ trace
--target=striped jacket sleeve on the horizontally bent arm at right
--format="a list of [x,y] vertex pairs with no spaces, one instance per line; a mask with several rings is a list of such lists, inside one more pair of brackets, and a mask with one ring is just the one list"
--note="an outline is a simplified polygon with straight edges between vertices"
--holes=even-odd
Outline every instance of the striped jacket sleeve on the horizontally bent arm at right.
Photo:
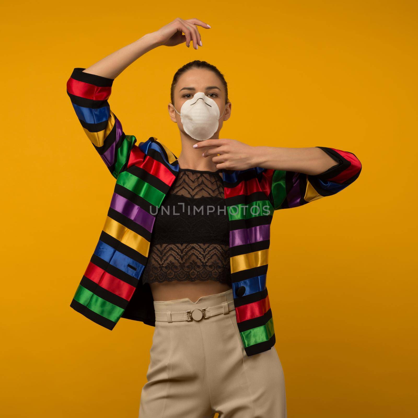
[[267,184],[271,188],[268,197],[274,210],[302,206],[331,196],[352,184],[359,176],[362,165],[353,153],[335,148],[318,148],[336,161],[335,166],[321,174],[311,176],[294,171],[265,171]]

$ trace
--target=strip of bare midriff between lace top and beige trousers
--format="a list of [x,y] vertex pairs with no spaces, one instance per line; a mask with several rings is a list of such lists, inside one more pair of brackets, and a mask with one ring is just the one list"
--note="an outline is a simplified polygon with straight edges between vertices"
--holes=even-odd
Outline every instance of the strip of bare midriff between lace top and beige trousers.
[[196,302],[201,296],[226,292],[231,288],[227,283],[219,283],[214,280],[150,283],[150,287],[154,301],[189,298],[192,302]]

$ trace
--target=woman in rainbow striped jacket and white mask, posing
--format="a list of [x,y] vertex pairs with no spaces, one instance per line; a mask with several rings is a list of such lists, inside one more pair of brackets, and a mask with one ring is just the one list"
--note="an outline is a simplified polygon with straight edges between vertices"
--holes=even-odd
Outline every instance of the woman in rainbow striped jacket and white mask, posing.
[[274,210],[351,184],[352,153],[219,139],[231,116],[227,82],[205,61],[179,69],[168,112],[177,158],[151,137],[135,145],[107,99],[113,79],[160,46],[202,46],[198,19],[175,19],[87,69],[67,92],[117,179],[99,242],[71,307],[113,329],[155,326],[140,418],[279,418],[285,385],[266,288]]

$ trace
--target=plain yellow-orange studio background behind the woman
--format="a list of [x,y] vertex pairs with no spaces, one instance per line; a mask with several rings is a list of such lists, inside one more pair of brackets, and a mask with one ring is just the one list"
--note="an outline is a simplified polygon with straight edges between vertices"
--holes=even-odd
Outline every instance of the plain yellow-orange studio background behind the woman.
[[1,416],[138,414],[153,327],[122,319],[108,331],[69,307],[114,178],[66,81],[177,16],[212,29],[198,51],[161,47],[118,77],[110,105],[126,134],[178,155],[171,79],[204,59],[229,82],[222,137],[329,146],[363,165],[336,196],[273,218],[267,283],[289,418],[417,416],[416,1],[20,1],[1,11]]

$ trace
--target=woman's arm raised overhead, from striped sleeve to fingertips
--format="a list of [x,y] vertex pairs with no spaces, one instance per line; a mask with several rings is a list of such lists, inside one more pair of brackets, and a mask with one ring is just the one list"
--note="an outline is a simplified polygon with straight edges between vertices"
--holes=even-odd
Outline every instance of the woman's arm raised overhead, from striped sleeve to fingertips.
[[193,42],[197,49],[198,44],[202,45],[198,25],[210,28],[198,19],[177,18],[86,69],[74,68],[68,79],[67,94],[79,122],[115,178],[126,168],[136,138],[125,135],[120,120],[110,110],[107,100],[114,79],[136,59],[157,46],[176,46],[180,43],[189,46]]

